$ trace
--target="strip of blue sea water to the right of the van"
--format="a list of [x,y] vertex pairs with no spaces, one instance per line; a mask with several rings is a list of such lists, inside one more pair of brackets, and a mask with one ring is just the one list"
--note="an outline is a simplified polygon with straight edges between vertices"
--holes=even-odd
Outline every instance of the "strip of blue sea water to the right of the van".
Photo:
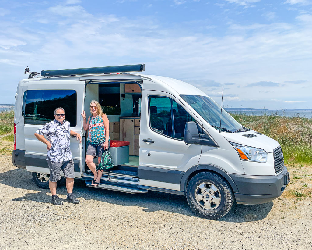
[[233,114],[244,114],[244,115],[279,115],[279,116],[286,116],[286,117],[306,117],[312,118],[312,111],[287,111],[287,110],[230,110],[228,111],[226,108],[225,110],[228,113]]

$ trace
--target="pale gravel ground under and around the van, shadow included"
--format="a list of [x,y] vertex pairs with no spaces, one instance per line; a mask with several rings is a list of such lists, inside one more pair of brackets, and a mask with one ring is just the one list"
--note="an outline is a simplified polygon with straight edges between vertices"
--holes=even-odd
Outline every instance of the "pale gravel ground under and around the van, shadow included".
[[[213,221],[195,216],[183,196],[126,194],[76,180],[81,203],[55,206],[8,153],[0,163],[0,249],[312,249],[309,196],[236,205]],[[66,198],[64,183],[57,192]]]

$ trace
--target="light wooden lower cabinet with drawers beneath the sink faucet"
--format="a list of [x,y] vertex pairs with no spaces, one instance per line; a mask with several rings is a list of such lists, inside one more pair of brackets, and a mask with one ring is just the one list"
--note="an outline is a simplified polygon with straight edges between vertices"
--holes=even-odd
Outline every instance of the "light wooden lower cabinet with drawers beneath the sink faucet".
[[136,126],[139,118],[120,118],[119,119],[119,140],[128,141],[129,155],[139,155],[139,133],[140,127]]

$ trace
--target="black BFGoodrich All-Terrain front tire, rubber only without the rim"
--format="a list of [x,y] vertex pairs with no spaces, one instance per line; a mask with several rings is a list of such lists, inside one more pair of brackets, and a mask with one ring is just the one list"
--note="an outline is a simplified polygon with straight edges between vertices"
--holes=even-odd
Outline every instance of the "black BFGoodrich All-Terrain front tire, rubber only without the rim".
[[[220,192],[220,204],[215,209],[206,210],[195,199],[196,187],[205,182],[212,183]],[[193,176],[186,188],[186,197],[188,205],[196,215],[213,220],[226,215],[231,210],[235,200],[230,184],[223,177],[213,172],[200,172]]]

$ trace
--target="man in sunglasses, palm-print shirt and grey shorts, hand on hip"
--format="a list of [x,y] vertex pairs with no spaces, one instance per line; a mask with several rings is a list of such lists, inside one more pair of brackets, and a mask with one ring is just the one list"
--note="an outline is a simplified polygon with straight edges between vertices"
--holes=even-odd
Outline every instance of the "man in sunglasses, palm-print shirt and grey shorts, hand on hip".
[[81,143],[81,136],[69,129],[70,123],[65,121],[65,110],[63,108],[56,108],[54,117],[53,121],[46,123],[35,132],[37,139],[45,143],[46,149],[48,149],[46,161],[50,168],[49,188],[52,194],[52,203],[54,205],[63,205],[61,199],[56,195],[56,182],[61,179],[62,169],[66,178],[66,201],[78,204],[80,201],[73,195],[75,172],[69,143],[71,135],[75,135]]

